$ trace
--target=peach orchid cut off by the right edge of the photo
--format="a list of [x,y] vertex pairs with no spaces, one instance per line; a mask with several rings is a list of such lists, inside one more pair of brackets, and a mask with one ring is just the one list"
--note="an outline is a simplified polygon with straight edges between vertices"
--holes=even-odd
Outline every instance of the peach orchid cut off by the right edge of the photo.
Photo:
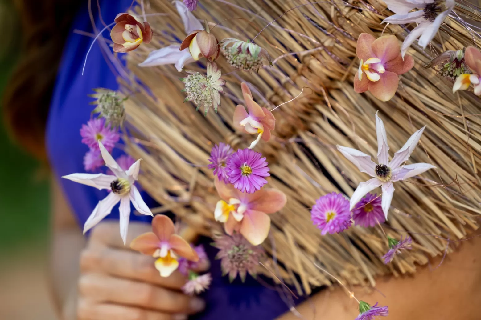
[[481,51],[473,46],[467,47],[464,53],[464,61],[471,69],[472,74],[460,74],[453,85],[453,93],[458,90],[466,90],[470,84],[473,84],[474,94],[481,95]]

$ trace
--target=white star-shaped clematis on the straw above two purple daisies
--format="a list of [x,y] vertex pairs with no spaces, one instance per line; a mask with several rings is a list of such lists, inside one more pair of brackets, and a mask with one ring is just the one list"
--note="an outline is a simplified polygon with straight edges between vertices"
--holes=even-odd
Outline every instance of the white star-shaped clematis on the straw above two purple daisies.
[[[379,111],[378,111],[379,112]],[[357,202],[364,197],[367,192],[370,192],[378,187],[382,189],[381,207],[384,215],[388,217],[389,207],[391,206],[392,194],[394,193],[393,182],[405,180],[421,174],[429,169],[435,168],[428,163],[415,163],[412,165],[402,164],[409,158],[411,153],[416,148],[422,132],[426,126],[422,127],[406,141],[401,149],[394,154],[391,162],[389,162],[389,146],[386,137],[386,130],[384,130],[384,123],[376,112],[376,133],[378,136],[378,163],[371,160],[371,156],[359,150],[343,147],[337,145],[337,149],[351,161],[361,172],[367,173],[373,177],[366,182],[359,183],[359,186],[354,191],[350,201],[350,210],[353,210]]]

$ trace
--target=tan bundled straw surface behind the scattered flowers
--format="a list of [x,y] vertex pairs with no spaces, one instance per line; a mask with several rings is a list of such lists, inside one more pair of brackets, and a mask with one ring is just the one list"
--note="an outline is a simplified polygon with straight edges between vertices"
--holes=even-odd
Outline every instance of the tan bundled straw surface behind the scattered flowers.
[[[255,149],[269,162],[267,186],[282,190],[288,198],[280,212],[270,215],[271,231],[263,244],[271,257],[267,267],[306,294],[312,287],[334,282],[331,275],[349,285],[374,286],[381,275],[414,273],[417,264],[451,252],[454,241],[478,228],[480,100],[470,92],[453,94],[451,83],[421,66],[444,50],[475,45],[474,41],[480,45],[479,38],[462,22],[446,19],[424,52],[417,43],[411,47],[415,67],[401,76],[392,100],[380,102],[368,92],[356,94],[353,78],[359,63],[357,37],[362,32],[380,36],[385,26],[380,22],[392,14],[382,1],[201,0],[193,13],[201,21],[207,19],[211,28],[230,18],[212,32],[218,40],[236,37],[245,41],[298,5],[302,6],[255,38],[272,57],[272,67],[261,68],[257,74],[229,73],[232,69],[226,60],[217,60],[227,81],[225,95],[218,113],[211,108],[204,118],[202,109],[196,112],[194,105],[183,103],[186,96],[178,80],[183,75],[173,65],[137,66],[151,50],[178,43],[176,39],[186,36],[172,3],[146,3],[147,14],[167,15],[148,15],[153,41],[127,57],[128,69],[143,84],[121,81],[122,90],[129,95],[125,102],[127,128],[135,137],[129,140],[127,152],[143,159],[139,181],[162,205],[154,213],[174,212],[190,226],[191,234],[223,232],[214,220],[219,198],[212,170],[206,165],[215,143],[227,142],[237,150],[255,139],[232,129],[234,108],[243,103],[241,81],[248,82],[254,99],[269,109],[304,90],[273,112],[275,137]],[[140,13],[139,8],[136,11]],[[455,11],[481,21],[480,14],[463,2],[457,3]],[[408,28],[389,25],[384,35],[394,34],[403,41]],[[196,64],[187,68],[204,72]],[[336,144],[359,149],[375,159],[377,110],[386,127],[391,156],[412,133],[428,125],[408,163],[427,162],[437,169],[395,183],[389,219],[382,228],[353,226],[341,234],[321,236],[310,218],[316,199],[332,191],[351,196],[359,182],[368,178],[337,151]],[[381,257],[389,249],[384,233],[397,239],[410,235],[413,249],[383,264]]]

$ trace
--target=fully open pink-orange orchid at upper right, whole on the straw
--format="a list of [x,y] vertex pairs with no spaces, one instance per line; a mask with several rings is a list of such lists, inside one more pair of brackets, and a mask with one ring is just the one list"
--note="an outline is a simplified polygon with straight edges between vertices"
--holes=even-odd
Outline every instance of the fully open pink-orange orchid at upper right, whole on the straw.
[[354,76],[357,93],[370,91],[381,101],[389,101],[399,85],[399,75],[414,66],[413,57],[401,56],[401,46],[396,36],[375,38],[362,33],[357,38],[357,57],[361,60]]

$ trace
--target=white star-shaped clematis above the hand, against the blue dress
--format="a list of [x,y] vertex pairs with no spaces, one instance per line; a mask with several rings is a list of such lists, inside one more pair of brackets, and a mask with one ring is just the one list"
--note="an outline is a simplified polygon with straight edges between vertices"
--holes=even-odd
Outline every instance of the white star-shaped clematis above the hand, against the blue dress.
[[105,165],[112,170],[115,176],[104,175],[103,173],[73,173],[68,176],[63,176],[62,178],[95,187],[99,190],[112,190],[105,199],[99,201],[93,212],[90,214],[89,219],[87,219],[84,225],[84,234],[89,231],[91,227],[97,225],[103,218],[105,218],[120,201],[120,236],[125,244],[130,218],[130,201],[132,201],[132,204],[139,213],[152,215],[149,207],[147,207],[140,196],[139,190],[134,185],[134,182],[139,176],[141,159],[137,160],[137,162],[130,166],[127,171],[124,171],[117,162],[115,162],[112,155],[109,154],[100,141],[99,147]]

